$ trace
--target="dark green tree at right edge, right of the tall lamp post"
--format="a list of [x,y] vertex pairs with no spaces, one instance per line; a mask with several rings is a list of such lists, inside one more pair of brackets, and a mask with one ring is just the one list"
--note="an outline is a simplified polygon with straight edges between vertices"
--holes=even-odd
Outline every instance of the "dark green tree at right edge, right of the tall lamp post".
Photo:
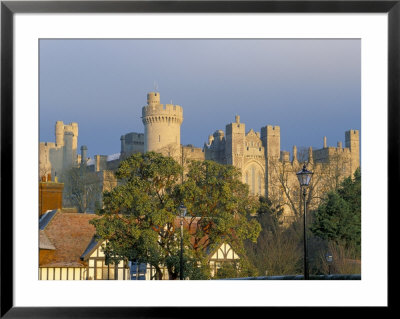
[[314,212],[311,231],[316,236],[346,248],[361,251],[361,174],[346,178],[329,192]]

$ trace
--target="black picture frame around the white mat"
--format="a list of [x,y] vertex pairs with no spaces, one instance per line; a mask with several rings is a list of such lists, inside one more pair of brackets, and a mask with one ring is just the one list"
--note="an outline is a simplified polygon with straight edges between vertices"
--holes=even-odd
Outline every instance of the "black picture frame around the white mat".
[[[181,307],[14,307],[13,303],[13,19],[15,13],[118,12],[269,12],[388,13],[388,207],[397,213],[399,181],[400,0],[396,1],[1,1],[1,264],[0,317],[5,318],[131,318],[180,317],[193,314]],[[377,171],[379,169],[377,168]],[[372,172],[376,173],[376,172]],[[388,212],[388,219],[391,217]],[[388,225],[391,225],[389,222]],[[392,227],[394,223],[392,222]],[[388,226],[389,227],[389,226]],[[388,229],[388,234],[391,233]],[[389,238],[388,238],[389,239]],[[388,242],[388,247],[390,242]],[[390,249],[389,249],[390,250]],[[388,258],[389,258],[388,254]],[[390,258],[389,258],[390,264]],[[388,269],[389,270],[389,269]],[[390,280],[388,280],[388,286]],[[388,300],[390,308],[390,298]],[[297,307],[296,307],[297,308]],[[293,314],[299,309],[291,307]],[[300,309],[300,312],[305,309]],[[213,309],[222,315],[224,309]],[[247,312],[247,310],[245,310]],[[207,311],[207,313],[209,313]],[[238,312],[235,310],[235,313]],[[240,312],[239,312],[240,313]],[[207,315],[207,314],[205,314]]]

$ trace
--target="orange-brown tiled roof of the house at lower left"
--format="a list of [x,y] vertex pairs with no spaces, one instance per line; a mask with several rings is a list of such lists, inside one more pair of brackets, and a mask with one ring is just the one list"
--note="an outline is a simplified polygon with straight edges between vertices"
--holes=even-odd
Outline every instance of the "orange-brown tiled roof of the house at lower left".
[[43,230],[43,234],[55,247],[54,254],[51,260],[40,266],[84,266],[80,256],[95,234],[95,228],[89,221],[97,217],[94,214],[65,213],[57,210]]

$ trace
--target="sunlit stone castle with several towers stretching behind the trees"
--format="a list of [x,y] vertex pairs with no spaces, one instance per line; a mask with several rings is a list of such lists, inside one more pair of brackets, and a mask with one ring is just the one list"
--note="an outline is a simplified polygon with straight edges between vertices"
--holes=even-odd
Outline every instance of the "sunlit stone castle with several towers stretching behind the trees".
[[313,192],[309,192],[309,204],[317,204],[314,198],[338,185],[347,176],[352,176],[360,166],[360,136],[358,130],[345,132],[345,147],[338,142],[328,147],[326,137],[321,149],[308,149],[306,156],[298,156],[293,146],[292,158],[288,151],[280,149],[280,127],[267,125],[260,132],[250,129],[246,133],[240,117],[227,124],[225,132],[215,131],[208,137],[203,148],[181,145],[180,127],[183,122],[183,108],[179,105],[161,104],[160,94],[147,94],[147,105],[142,107],[143,133],[122,135],[121,151],[114,155],[95,155],[87,159],[87,147],[81,147],[77,154],[78,125],[56,123],[56,143],[40,143],[40,172],[51,170],[51,176],[79,163],[86,162],[89,169],[115,186],[112,174],[121,160],[137,152],[155,151],[171,156],[183,166],[190,160],[213,160],[230,164],[242,173],[242,181],[249,185],[253,195],[268,196],[281,206],[286,215],[296,214],[300,193],[296,172],[304,161],[307,169],[314,171]]

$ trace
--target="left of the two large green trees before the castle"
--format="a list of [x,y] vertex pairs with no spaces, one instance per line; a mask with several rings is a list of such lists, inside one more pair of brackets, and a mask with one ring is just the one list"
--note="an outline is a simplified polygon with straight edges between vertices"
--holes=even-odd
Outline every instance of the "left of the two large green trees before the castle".
[[148,263],[157,279],[165,266],[169,278],[177,278],[175,217],[179,203],[173,189],[180,172],[173,159],[153,152],[134,154],[121,162],[116,172],[119,185],[104,192],[102,217],[93,221],[97,235],[107,240],[107,261],[125,258]]

